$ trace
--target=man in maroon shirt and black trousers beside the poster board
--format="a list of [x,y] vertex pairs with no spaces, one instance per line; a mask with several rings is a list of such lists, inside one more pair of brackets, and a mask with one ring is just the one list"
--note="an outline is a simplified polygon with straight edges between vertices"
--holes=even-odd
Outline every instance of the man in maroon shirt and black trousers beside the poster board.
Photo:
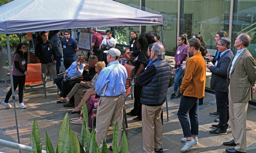
[[98,57],[100,61],[100,44],[102,43],[102,35],[97,32],[97,27],[91,28],[91,33],[93,37],[91,38],[91,52]]

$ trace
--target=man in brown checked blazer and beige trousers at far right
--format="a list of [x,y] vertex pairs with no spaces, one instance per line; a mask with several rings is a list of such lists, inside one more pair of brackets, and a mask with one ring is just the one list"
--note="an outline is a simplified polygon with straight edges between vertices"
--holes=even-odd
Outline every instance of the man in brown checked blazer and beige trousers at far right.
[[248,101],[253,96],[256,81],[256,66],[252,54],[247,50],[251,43],[248,34],[241,33],[235,40],[237,53],[228,67],[229,118],[233,140],[224,142],[228,153],[246,152],[246,115]]

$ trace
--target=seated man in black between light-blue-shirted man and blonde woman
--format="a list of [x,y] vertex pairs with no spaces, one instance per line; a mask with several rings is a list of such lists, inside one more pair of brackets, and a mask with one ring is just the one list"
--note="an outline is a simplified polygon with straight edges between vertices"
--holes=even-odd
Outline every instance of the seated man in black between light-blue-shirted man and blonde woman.
[[[97,74],[97,72],[95,71],[95,67],[97,66],[97,61],[98,58],[96,55],[91,55],[89,56],[89,60],[88,60],[88,64],[84,67],[84,71],[83,71],[83,81],[91,81],[94,76]],[[66,81],[66,89],[63,92],[63,98],[67,97],[68,93],[71,92],[71,90],[73,89],[73,87],[75,86],[75,84],[80,83],[82,80],[81,79],[69,79]],[[63,105],[64,107],[72,107],[74,106],[74,96],[72,96],[70,98],[69,103]]]

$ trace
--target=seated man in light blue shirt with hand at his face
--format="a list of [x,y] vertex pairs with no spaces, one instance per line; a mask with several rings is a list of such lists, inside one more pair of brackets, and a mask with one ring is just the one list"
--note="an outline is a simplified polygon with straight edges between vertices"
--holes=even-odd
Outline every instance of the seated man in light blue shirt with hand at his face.
[[77,62],[73,62],[71,66],[65,71],[64,75],[60,75],[59,77],[54,79],[57,87],[60,90],[60,94],[57,96],[63,97],[65,88],[66,88],[66,81],[72,77],[77,75],[81,75],[84,71],[85,66],[85,56],[78,55]]

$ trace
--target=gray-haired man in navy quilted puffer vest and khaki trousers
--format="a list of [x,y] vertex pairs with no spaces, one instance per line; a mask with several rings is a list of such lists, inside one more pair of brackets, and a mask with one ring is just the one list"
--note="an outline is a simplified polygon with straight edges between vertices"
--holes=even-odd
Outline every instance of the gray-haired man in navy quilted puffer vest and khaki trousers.
[[153,62],[137,77],[142,86],[142,136],[145,153],[162,153],[162,104],[166,100],[171,68],[163,58],[165,48],[154,43],[150,52]]

